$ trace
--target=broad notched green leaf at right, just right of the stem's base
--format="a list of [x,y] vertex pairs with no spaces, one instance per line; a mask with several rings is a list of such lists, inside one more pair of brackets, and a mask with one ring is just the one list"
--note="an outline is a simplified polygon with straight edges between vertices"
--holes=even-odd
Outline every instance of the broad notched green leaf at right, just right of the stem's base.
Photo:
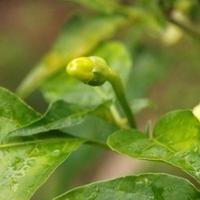
[[108,145],[133,158],[167,162],[200,181],[200,122],[191,110],[166,114],[149,137],[137,130],[117,131]]

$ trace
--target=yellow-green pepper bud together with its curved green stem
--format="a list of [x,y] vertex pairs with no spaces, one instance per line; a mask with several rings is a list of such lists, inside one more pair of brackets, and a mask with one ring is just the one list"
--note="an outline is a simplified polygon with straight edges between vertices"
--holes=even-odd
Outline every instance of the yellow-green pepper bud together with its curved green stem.
[[80,57],[72,60],[66,68],[67,73],[92,86],[100,86],[106,81],[112,85],[116,96],[127,116],[130,126],[136,127],[132,111],[128,105],[122,81],[118,74],[112,70],[103,58],[97,56]]

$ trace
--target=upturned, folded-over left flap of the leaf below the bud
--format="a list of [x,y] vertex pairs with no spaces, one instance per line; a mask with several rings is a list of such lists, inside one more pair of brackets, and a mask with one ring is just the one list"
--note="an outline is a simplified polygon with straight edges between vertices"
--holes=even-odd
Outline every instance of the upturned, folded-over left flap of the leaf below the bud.
[[58,130],[69,126],[74,126],[89,113],[88,110],[81,110],[75,105],[68,104],[62,100],[50,105],[47,112],[37,120],[10,133],[15,136],[32,136],[51,130]]

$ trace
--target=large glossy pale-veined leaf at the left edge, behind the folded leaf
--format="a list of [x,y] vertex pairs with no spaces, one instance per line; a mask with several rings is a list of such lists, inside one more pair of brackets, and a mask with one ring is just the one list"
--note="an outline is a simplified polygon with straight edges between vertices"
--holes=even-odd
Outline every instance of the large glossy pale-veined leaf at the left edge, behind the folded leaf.
[[0,88],[0,199],[27,200],[83,140],[46,137],[9,140],[11,131],[39,117],[9,91]]

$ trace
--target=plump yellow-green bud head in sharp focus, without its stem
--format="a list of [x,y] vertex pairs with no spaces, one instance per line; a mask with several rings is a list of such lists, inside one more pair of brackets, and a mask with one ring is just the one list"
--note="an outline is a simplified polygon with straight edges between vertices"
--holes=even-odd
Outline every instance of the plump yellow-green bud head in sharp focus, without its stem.
[[91,56],[72,60],[66,71],[70,76],[86,84],[99,86],[107,80],[110,68],[104,59]]

